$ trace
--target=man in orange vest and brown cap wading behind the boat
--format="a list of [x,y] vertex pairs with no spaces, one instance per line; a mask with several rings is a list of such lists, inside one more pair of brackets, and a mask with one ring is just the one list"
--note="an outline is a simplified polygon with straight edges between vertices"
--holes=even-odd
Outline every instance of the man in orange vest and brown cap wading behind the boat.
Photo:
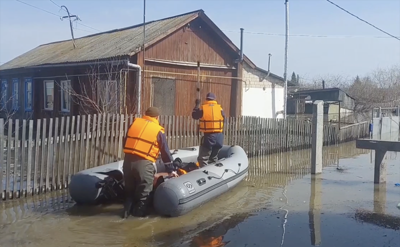
[[[170,177],[177,177],[173,159],[166,142],[164,128],[158,122],[159,110],[149,107],[143,117],[133,120],[123,141],[123,179],[125,182],[125,204],[123,218],[130,213],[144,217],[153,188],[155,160],[161,159]],[[133,205],[133,210],[131,210]]]

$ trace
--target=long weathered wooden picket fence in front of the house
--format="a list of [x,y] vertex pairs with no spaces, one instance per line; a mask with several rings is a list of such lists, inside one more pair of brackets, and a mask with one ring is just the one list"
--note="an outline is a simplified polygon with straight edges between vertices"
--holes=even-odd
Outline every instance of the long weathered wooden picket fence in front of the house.
[[[137,115],[136,115],[137,116]],[[2,199],[66,188],[80,170],[123,158],[122,139],[135,115],[94,114],[60,118],[0,119],[0,192]],[[170,149],[200,142],[198,121],[190,116],[160,116]],[[362,123],[342,129],[324,125],[323,144],[368,134]],[[355,134],[352,134],[354,132]],[[224,143],[240,145],[248,156],[306,149],[311,123],[296,119],[229,117]]]

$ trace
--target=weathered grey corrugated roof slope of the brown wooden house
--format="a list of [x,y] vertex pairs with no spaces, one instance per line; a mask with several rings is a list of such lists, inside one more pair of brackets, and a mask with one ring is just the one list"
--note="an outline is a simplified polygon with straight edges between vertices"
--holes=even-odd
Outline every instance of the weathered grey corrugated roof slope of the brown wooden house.
[[[198,16],[202,9],[180,15],[149,21],[145,24],[146,45],[167,35]],[[143,24],[42,44],[0,66],[0,70],[43,64],[82,62],[115,56],[133,55],[143,44]]]

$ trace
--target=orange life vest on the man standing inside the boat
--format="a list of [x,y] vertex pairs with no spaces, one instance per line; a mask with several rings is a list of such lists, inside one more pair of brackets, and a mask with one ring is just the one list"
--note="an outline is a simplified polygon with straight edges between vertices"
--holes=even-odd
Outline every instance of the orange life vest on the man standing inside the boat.
[[199,130],[204,133],[222,132],[223,117],[222,107],[215,100],[205,101],[200,109],[203,110],[203,116],[200,118]]

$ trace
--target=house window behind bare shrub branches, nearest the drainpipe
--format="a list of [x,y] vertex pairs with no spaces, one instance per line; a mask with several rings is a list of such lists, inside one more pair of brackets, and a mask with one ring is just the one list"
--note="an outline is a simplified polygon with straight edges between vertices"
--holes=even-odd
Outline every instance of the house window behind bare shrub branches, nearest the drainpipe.
[[97,104],[103,112],[119,112],[119,84],[116,80],[99,80]]

